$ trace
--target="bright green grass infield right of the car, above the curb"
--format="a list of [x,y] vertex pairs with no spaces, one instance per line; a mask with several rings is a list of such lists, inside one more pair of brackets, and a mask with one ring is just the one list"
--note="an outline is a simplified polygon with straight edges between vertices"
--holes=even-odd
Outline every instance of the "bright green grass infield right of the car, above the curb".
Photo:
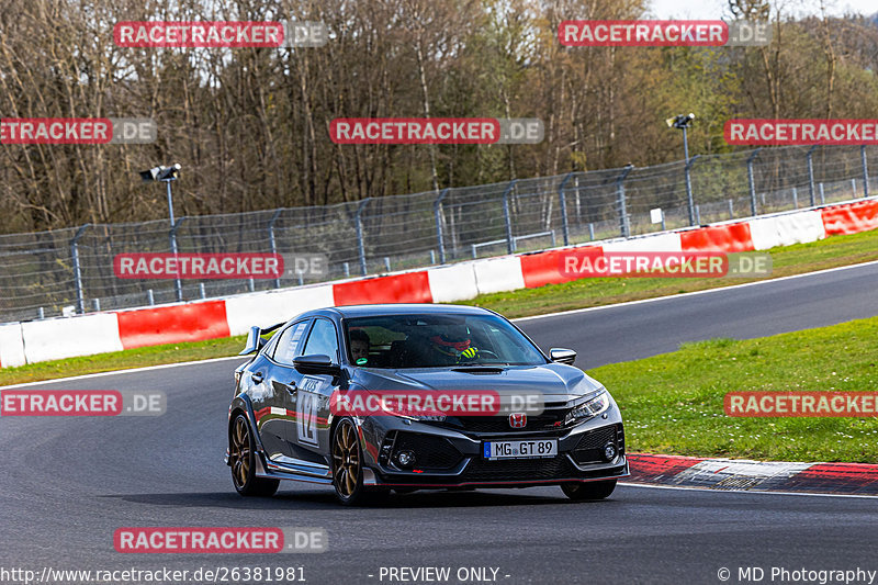
[[678,351],[588,372],[612,393],[634,452],[878,463],[878,418],[741,418],[733,391],[878,390],[878,317]]

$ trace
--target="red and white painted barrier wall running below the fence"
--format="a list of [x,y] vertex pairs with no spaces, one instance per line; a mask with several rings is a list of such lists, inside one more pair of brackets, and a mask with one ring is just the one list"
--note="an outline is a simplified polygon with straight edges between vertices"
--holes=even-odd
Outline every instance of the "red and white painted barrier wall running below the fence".
[[[815,241],[878,228],[878,201],[759,216],[694,229],[595,243],[601,251],[748,251]],[[581,248],[581,247],[579,247]],[[361,303],[442,303],[477,294],[572,280],[561,272],[570,248],[503,256],[457,265],[267,291],[225,300],[0,326],[0,367],[70,358],[122,348],[195,341],[244,334],[320,306]]]

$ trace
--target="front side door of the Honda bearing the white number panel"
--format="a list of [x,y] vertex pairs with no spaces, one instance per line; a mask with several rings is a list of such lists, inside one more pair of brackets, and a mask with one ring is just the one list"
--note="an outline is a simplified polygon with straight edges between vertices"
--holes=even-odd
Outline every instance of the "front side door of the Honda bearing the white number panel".
[[[329,356],[340,363],[338,329],[331,319],[316,317],[308,330],[303,356]],[[339,376],[331,374],[303,375],[296,392],[296,424],[289,429],[297,452],[326,453],[329,446],[329,400],[338,389]],[[308,458],[311,459],[311,457]]]

